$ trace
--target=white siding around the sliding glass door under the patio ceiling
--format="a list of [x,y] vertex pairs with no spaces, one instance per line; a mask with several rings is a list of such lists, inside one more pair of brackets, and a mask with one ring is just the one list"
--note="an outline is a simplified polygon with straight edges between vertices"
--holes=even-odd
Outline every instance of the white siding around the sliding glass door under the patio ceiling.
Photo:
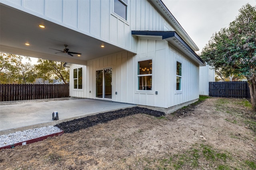
[[[96,98],[96,71],[112,68],[112,101],[133,103],[133,53],[122,51],[87,62],[86,98]],[[116,94],[117,92],[117,94]]]

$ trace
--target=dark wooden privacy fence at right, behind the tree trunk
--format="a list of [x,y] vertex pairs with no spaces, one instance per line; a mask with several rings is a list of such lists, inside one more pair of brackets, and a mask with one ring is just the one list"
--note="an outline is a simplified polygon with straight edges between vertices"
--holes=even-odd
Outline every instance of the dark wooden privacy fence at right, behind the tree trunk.
[[250,98],[250,91],[247,82],[209,82],[209,96]]

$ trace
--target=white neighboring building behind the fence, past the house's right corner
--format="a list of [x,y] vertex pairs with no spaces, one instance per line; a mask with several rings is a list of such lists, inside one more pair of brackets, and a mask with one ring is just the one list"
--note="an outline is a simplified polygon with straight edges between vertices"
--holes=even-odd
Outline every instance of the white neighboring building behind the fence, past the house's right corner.
[[215,82],[215,71],[207,65],[199,68],[199,94],[209,95],[209,82]]

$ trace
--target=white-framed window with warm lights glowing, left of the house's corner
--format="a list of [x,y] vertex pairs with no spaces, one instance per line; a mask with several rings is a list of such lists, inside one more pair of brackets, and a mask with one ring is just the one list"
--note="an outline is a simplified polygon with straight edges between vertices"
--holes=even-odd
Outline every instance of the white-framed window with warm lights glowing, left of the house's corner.
[[152,60],[138,62],[138,90],[152,90]]

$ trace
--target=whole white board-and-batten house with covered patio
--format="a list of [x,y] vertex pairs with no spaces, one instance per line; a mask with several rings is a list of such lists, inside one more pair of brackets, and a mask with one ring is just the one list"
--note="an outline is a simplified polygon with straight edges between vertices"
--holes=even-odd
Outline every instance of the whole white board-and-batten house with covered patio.
[[166,113],[199,98],[205,63],[161,0],[0,2],[0,51],[73,63],[70,96]]

